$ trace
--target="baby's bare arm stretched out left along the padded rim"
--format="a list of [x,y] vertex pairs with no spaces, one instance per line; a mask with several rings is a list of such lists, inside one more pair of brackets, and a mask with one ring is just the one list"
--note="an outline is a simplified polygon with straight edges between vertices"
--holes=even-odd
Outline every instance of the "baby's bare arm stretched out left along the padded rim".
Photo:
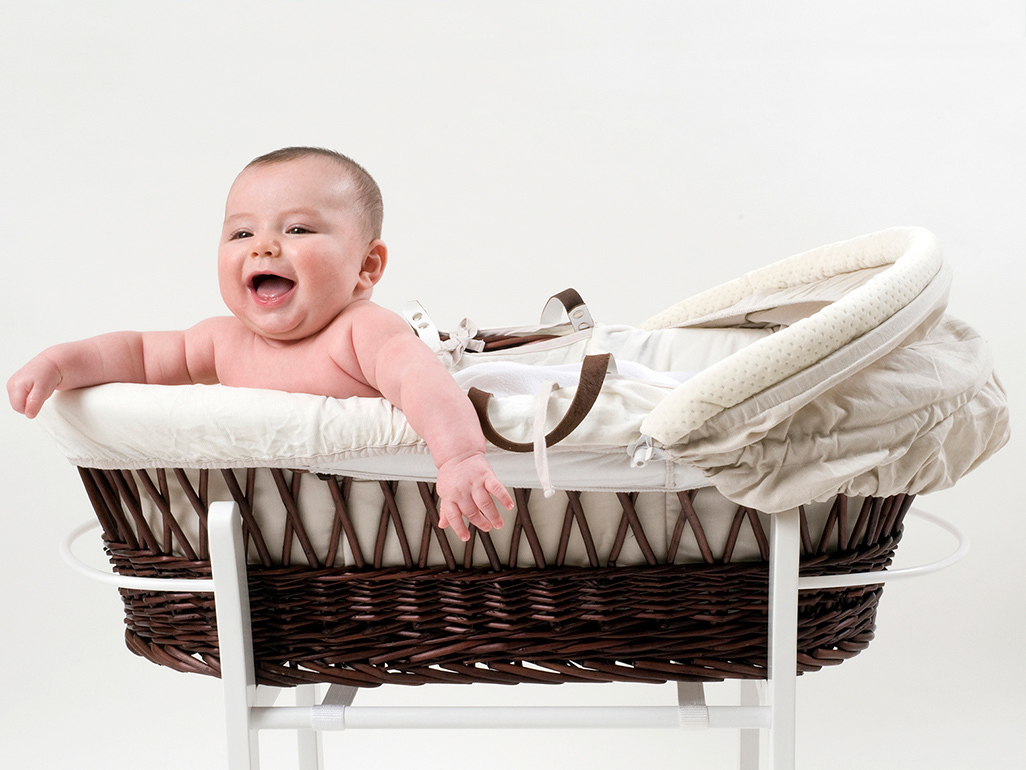
[[115,332],[54,345],[14,373],[7,395],[16,412],[35,417],[54,390],[105,382],[216,382],[207,322],[187,332]]

